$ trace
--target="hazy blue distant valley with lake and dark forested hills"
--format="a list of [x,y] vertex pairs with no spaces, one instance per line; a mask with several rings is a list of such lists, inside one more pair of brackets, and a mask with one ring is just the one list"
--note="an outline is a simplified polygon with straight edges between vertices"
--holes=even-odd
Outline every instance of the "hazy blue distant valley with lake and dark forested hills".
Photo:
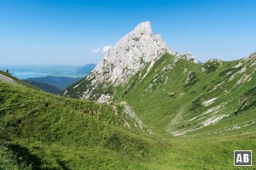
[[2,71],[24,80],[50,94],[62,90],[85,77],[96,65],[0,65]]

